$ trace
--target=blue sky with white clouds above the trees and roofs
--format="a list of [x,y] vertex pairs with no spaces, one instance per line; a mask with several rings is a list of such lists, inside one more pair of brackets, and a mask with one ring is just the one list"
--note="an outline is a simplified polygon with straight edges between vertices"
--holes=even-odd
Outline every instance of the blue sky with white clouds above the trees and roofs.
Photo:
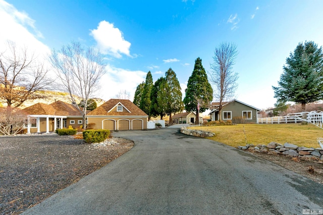
[[274,106],[272,86],[298,43],[323,45],[322,9],[319,0],[0,0],[0,49],[8,39],[39,53],[72,40],[98,47],[107,73],[96,96],[108,100],[121,90],[133,99],[149,70],[156,81],[170,67],[184,93],[195,59],[209,71],[214,48],[232,42],[236,99],[265,109]]

